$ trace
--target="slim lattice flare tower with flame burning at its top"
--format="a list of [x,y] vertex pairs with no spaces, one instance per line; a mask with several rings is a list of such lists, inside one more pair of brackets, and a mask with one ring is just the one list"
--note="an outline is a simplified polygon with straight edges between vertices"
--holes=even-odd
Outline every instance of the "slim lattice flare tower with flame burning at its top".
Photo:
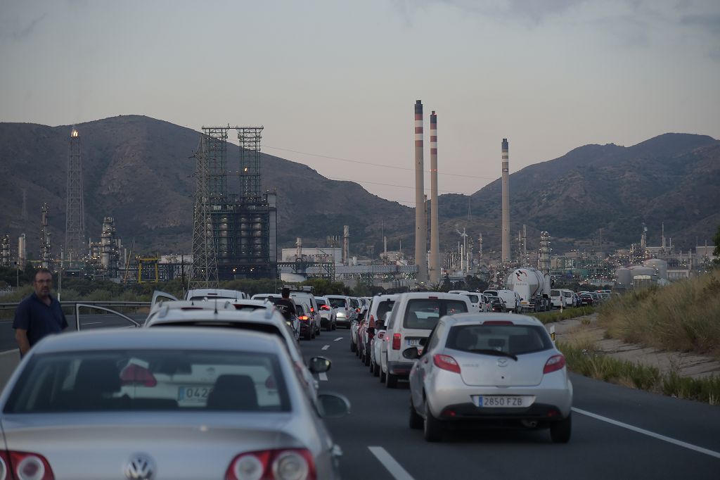
[[65,252],[69,260],[81,260],[86,256],[85,209],[80,134],[75,129],[70,135],[66,201]]

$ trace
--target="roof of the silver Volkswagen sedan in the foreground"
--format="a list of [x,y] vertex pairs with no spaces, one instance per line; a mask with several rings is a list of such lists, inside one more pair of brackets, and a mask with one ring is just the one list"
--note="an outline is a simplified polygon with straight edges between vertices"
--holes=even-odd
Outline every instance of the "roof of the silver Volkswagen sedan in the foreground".
[[91,329],[59,335],[48,335],[32,347],[32,353],[73,352],[77,350],[114,349],[188,349],[251,350],[278,352],[282,340],[277,335],[247,330],[197,327],[162,329]]

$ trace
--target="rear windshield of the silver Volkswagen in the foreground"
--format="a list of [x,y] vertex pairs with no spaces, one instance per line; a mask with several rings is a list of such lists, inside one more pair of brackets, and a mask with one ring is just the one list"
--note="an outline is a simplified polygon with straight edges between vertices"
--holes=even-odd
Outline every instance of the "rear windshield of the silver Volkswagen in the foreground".
[[36,355],[4,413],[290,409],[274,353],[168,349]]

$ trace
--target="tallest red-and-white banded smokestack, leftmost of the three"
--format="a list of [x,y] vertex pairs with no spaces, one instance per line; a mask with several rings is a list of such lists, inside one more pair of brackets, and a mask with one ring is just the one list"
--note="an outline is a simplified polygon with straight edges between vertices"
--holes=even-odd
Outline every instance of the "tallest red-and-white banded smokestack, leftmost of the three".
[[415,102],[415,265],[418,265],[418,283],[428,281],[423,148],[423,102],[418,100]]

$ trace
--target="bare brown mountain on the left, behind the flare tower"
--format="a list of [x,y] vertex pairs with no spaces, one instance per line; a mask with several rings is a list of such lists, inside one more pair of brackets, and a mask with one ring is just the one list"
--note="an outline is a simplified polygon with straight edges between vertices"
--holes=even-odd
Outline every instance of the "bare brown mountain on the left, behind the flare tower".
[[[27,251],[40,249],[40,208],[50,206],[53,251],[65,239],[68,139],[81,137],[86,235],[99,239],[102,220],[114,218],[125,246],[138,252],[189,252],[192,196],[199,133],[153,118],[127,115],[94,122],[48,127],[0,123],[0,236],[28,237]],[[240,148],[228,143],[228,164]],[[236,161],[236,160],[235,160]],[[413,232],[413,210],[384,200],[354,182],[329,180],[310,167],[261,154],[261,187],[278,195],[279,243],[325,246],[328,235],[349,225],[353,242],[386,233]],[[23,190],[27,218],[22,218]],[[361,243],[360,243],[361,245]],[[14,252],[13,252],[14,255]]]

